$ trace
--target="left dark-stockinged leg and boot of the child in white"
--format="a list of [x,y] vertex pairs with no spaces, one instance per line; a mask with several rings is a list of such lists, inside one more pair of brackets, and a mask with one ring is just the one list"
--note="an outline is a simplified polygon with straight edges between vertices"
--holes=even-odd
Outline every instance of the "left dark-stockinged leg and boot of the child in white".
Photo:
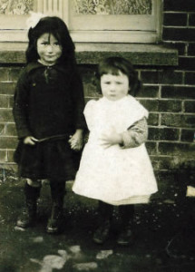
[[96,244],[103,244],[109,238],[112,211],[112,205],[99,201],[99,227],[93,233],[93,242],[95,242]]

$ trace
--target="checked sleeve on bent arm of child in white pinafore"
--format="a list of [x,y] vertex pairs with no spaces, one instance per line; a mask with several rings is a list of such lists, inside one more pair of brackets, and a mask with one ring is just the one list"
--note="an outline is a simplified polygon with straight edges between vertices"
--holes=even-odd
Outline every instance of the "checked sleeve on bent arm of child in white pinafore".
[[134,148],[140,146],[148,138],[148,124],[146,118],[136,121],[122,133],[122,148]]

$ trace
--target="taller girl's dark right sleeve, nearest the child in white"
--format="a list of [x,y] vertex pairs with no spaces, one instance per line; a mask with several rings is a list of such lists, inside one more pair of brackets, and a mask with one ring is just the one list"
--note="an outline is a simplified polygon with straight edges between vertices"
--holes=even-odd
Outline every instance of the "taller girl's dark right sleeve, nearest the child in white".
[[83,115],[84,110],[84,94],[83,83],[80,75],[76,71],[72,77],[72,99],[73,99],[73,112],[74,112],[74,126],[75,129],[86,129],[86,122]]

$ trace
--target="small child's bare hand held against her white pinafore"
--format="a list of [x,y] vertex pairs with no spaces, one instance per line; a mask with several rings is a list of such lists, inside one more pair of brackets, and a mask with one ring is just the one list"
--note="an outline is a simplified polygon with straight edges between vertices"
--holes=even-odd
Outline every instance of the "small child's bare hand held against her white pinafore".
[[109,148],[114,144],[122,143],[122,135],[112,128],[110,131],[103,133],[100,140],[104,148]]

